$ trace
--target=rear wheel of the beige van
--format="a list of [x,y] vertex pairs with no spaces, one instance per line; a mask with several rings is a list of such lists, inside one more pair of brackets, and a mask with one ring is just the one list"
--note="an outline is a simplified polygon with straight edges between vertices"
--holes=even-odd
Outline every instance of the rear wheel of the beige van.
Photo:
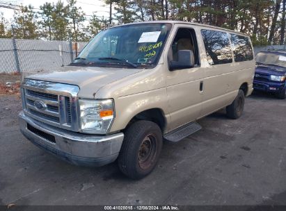
[[241,117],[242,112],[244,111],[244,91],[239,90],[235,100],[226,107],[226,115],[231,119],[238,119]]

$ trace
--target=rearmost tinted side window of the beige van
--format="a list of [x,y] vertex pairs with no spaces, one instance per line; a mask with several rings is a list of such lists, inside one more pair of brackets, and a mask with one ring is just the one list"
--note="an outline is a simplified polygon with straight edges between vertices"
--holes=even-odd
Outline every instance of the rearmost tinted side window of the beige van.
[[231,35],[232,50],[235,54],[235,62],[244,62],[253,60],[253,49],[251,47],[251,41],[249,37],[241,35]]

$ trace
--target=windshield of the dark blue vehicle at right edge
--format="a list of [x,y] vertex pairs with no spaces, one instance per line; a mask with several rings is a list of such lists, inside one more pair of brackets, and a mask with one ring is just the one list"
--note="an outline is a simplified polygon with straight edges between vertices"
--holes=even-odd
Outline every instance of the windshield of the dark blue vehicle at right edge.
[[255,60],[263,65],[286,67],[286,56],[279,55],[278,53],[260,52],[257,53]]

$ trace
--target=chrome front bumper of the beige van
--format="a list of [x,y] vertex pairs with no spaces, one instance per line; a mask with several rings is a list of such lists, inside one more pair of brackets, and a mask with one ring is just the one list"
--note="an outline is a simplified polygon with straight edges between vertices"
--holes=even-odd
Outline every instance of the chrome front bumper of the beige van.
[[43,124],[19,113],[22,134],[33,144],[62,160],[82,166],[99,167],[118,157],[124,135],[87,135]]

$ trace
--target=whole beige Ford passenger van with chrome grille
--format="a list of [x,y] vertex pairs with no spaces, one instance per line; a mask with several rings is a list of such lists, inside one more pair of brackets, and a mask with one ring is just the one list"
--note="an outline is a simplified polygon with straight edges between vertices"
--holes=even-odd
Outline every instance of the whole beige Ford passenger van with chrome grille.
[[118,160],[143,178],[163,140],[200,130],[197,119],[226,107],[237,119],[253,91],[247,35],[187,22],[142,22],[100,32],[69,66],[27,76],[20,129],[63,160]]

